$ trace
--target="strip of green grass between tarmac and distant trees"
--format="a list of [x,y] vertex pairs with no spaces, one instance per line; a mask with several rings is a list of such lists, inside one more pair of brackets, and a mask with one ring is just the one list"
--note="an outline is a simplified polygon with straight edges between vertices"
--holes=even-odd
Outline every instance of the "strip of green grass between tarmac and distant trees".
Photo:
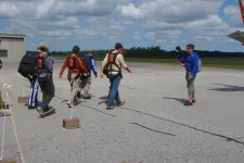
[[[95,58],[102,61],[101,58]],[[126,62],[153,63],[179,65],[177,59],[131,59],[125,58]],[[244,58],[202,58],[203,67],[222,67],[222,68],[244,68]]]

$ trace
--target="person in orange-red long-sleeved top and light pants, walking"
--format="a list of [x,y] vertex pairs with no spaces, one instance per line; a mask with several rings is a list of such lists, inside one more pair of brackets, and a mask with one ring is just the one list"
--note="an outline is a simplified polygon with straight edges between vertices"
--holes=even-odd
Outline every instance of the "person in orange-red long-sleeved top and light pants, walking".
[[70,83],[72,95],[69,101],[66,103],[69,108],[74,106],[77,102],[77,93],[80,91],[80,72],[84,71],[85,76],[89,76],[88,70],[84,66],[81,59],[78,57],[79,47],[74,46],[73,53],[68,55],[60,71],[60,78],[62,78],[63,73],[66,67],[68,67],[67,79]]

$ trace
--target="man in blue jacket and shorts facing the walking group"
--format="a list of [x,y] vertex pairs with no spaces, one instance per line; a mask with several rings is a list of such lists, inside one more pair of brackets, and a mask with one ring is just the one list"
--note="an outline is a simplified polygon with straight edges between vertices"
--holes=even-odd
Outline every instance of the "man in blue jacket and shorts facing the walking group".
[[194,80],[198,73],[198,55],[193,51],[194,45],[189,43],[187,46],[187,55],[181,54],[180,47],[176,48],[176,55],[180,65],[185,67],[187,88],[189,93],[189,100],[184,102],[184,105],[192,105],[195,103],[195,89]]

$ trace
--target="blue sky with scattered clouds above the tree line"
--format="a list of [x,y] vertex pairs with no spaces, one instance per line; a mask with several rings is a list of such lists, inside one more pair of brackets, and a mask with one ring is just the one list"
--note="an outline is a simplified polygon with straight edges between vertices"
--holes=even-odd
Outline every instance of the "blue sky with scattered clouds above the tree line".
[[27,50],[159,46],[244,51],[227,37],[244,30],[237,0],[0,0],[0,33],[26,35]]

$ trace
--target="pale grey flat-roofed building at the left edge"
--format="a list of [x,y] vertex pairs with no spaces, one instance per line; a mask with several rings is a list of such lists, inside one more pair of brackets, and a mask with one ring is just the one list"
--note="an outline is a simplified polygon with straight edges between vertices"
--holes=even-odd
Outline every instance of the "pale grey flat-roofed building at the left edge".
[[26,35],[0,34],[2,62],[20,62],[26,53]]

